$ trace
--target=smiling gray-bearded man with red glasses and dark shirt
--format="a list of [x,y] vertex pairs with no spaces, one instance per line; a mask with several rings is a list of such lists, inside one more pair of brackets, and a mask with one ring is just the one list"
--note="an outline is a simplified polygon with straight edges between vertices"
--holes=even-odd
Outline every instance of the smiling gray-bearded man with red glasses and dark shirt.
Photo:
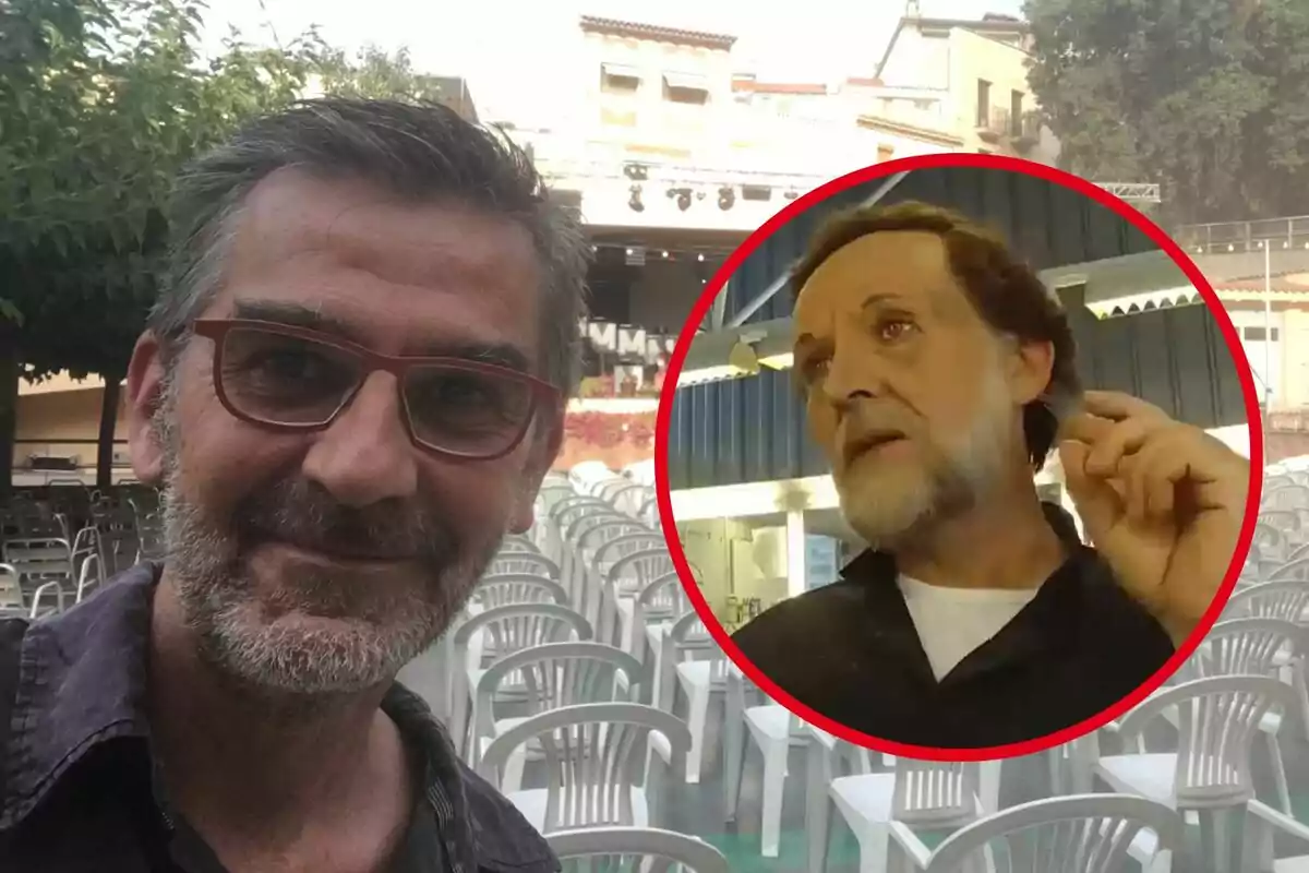
[[0,624],[0,869],[558,869],[397,671],[533,522],[589,246],[442,107],[312,101],[178,181],[132,355],[168,556]]

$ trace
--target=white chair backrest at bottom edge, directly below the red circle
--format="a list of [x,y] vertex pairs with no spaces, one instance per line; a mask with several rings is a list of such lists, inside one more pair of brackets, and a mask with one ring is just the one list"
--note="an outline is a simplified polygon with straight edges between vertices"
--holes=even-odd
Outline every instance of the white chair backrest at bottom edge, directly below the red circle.
[[1182,819],[1164,804],[1131,794],[1047,797],[987,815],[948,836],[924,873],[1115,873],[1143,830],[1160,848],[1181,847]]

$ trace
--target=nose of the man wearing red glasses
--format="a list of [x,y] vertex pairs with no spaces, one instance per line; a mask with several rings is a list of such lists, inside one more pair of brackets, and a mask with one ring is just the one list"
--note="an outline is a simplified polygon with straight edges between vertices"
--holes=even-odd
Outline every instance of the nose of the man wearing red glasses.
[[305,455],[305,475],[347,507],[412,496],[418,461],[402,415],[395,377],[373,373],[331,427],[317,435]]

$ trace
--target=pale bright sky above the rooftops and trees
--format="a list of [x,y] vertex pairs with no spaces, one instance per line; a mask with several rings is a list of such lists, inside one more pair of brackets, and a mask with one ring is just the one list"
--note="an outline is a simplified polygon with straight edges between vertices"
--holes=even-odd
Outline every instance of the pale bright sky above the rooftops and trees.
[[[924,16],[942,18],[1021,14],[1021,0],[920,5]],[[347,50],[408,47],[418,69],[463,76],[479,113],[496,120],[529,113],[542,98],[552,60],[583,14],[730,34],[740,69],[817,82],[870,76],[903,12],[905,0],[211,0],[206,42],[216,48],[230,25],[267,45],[318,25]]]

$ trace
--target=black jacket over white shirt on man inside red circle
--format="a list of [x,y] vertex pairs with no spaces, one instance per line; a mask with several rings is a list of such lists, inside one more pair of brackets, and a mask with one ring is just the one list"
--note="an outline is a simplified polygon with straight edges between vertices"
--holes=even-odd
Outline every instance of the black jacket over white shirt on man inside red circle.
[[881,552],[864,552],[840,581],[778,603],[732,639],[796,700],[880,739],[978,749],[1045,737],[1118,703],[1174,652],[1094,550],[1064,543],[1068,560],[1035,598],[940,682],[895,559]]

